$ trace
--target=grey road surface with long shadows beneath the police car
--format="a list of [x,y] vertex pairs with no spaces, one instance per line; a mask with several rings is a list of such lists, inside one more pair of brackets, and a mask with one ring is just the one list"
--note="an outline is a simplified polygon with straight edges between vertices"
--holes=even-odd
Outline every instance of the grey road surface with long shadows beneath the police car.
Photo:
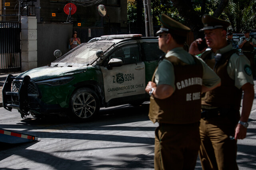
[[[0,128],[39,137],[37,142],[0,143],[0,170],[153,170],[154,129],[148,103],[101,109],[97,120],[72,123],[66,118],[22,119],[17,111],[0,108]],[[240,170],[256,169],[256,103],[247,138],[238,140]],[[199,159],[196,170],[201,170]]]

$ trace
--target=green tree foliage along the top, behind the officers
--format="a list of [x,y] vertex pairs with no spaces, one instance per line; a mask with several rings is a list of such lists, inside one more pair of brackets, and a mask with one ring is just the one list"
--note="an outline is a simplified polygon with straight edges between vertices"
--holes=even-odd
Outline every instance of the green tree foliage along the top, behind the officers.
[[[128,22],[136,23],[137,15],[142,15],[144,20],[143,6],[143,14],[137,14],[137,1],[128,0]],[[153,25],[160,25],[161,14],[166,14],[185,24],[186,18],[177,9],[182,8],[182,6],[176,8],[173,2],[172,0],[151,0]],[[198,16],[213,15],[221,4],[221,0],[185,0],[184,2],[186,3],[184,5],[192,6]],[[228,6],[224,8],[219,18],[230,21],[235,32],[241,32],[243,29],[256,29],[256,0],[229,0]],[[190,24],[193,25],[193,23]]]

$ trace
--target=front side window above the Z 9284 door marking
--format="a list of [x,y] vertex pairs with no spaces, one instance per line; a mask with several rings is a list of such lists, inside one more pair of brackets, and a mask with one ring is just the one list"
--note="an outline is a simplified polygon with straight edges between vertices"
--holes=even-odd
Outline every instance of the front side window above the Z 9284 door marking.
[[138,44],[131,44],[122,46],[114,51],[107,59],[120,59],[124,64],[138,63],[140,61],[140,53]]

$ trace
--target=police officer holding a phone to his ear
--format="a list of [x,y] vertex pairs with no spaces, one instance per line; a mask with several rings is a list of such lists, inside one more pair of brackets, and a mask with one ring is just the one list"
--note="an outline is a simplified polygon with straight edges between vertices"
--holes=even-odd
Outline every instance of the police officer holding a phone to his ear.
[[197,39],[190,45],[189,53],[202,53],[201,59],[220,76],[221,86],[202,96],[200,160],[203,170],[237,170],[236,142],[246,137],[254,99],[252,71],[248,59],[226,41],[229,22],[205,14],[202,23],[201,30],[211,50],[199,51],[202,39]]

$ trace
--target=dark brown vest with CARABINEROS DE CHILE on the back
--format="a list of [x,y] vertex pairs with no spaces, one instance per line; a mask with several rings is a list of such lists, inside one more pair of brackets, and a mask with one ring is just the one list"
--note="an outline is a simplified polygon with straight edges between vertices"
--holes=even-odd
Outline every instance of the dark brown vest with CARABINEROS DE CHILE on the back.
[[[166,99],[150,96],[148,116],[154,123],[156,121],[172,124],[198,122],[201,117],[202,64],[198,59],[194,59],[196,64],[186,64],[174,56],[165,59],[174,65],[176,90]],[[152,77],[153,82],[154,79],[155,74]]]

